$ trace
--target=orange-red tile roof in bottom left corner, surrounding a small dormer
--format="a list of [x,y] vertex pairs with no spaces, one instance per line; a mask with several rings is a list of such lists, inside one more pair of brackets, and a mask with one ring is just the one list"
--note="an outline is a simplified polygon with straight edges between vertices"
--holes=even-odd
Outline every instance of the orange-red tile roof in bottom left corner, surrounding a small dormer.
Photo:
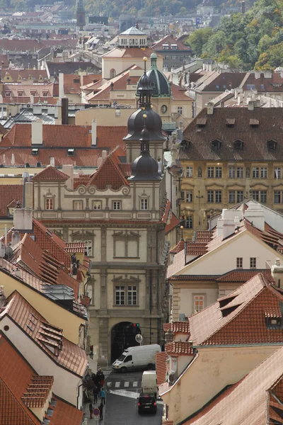
[[[41,422],[23,402],[23,395],[33,380],[46,382],[46,377],[36,375],[35,370],[25,361],[18,351],[10,344],[4,334],[0,334],[0,420],[3,425],[40,425]],[[81,425],[83,412],[57,399],[56,407],[49,419],[50,425]]]

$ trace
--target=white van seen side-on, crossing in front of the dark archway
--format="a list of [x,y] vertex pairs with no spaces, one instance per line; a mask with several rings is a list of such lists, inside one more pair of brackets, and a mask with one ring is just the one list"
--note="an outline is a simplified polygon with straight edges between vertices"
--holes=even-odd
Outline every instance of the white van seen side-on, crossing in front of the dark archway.
[[112,364],[112,369],[125,373],[133,369],[153,370],[156,366],[156,353],[161,351],[158,344],[129,347]]

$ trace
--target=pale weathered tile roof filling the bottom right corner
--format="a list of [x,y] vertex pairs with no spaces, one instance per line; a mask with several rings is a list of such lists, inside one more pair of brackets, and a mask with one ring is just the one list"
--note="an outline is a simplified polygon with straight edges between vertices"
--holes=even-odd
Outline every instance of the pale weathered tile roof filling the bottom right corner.
[[[283,348],[279,348],[243,380],[216,397],[197,416],[183,421],[183,424],[282,424],[282,373]],[[279,393],[276,394],[277,389]],[[278,407],[277,412],[273,409],[275,406]],[[275,415],[278,421],[272,420]]]

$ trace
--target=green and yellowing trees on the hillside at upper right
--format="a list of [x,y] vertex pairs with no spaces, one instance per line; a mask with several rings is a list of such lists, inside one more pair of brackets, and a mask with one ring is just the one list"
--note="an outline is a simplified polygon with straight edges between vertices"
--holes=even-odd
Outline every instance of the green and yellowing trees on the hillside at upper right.
[[195,55],[231,67],[275,69],[283,65],[282,12],[283,0],[257,0],[244,15],[221,18],[214,30],[195,31],[187,44]]

